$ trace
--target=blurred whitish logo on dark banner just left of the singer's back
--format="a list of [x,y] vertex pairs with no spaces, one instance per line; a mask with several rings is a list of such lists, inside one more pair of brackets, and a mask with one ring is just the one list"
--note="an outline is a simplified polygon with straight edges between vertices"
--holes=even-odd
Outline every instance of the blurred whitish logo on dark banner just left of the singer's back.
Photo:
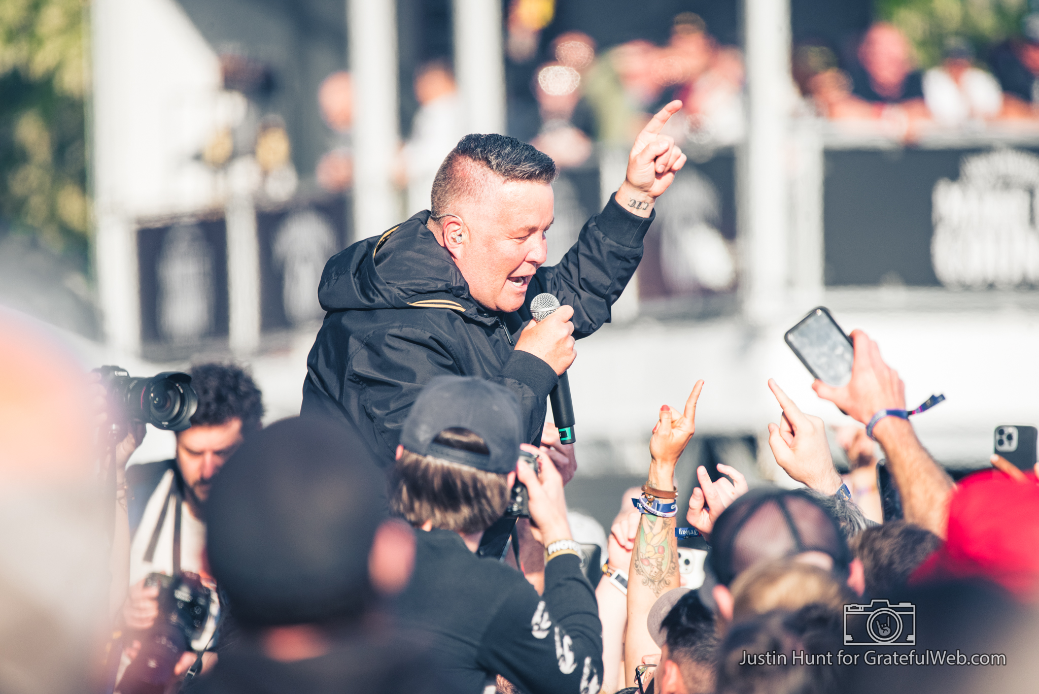
[[282,267],[282,301],[292,324],[322,315],[318,285],[325,262],[336,251],[331,224],[314,210],[290,214],[274,236],[274,260]]

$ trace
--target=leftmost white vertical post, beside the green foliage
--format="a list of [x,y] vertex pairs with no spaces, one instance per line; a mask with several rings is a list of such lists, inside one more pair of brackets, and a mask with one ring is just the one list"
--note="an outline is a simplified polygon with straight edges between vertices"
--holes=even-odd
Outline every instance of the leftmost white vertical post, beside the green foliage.
[[127,42],[132,7],[121,0],[94,0],[90,9],[92,82],[90,96],[91,183],[95,210],[95,269],[105,338],[119,352],[140,352],[140,292],[137,242],[132,215],[119,197],[121,162],[127,126]]

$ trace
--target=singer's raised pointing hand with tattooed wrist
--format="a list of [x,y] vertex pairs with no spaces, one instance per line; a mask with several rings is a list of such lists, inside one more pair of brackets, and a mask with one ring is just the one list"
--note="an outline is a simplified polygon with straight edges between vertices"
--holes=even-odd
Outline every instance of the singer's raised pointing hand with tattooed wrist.
[[661,134],[668,119],[681,108],[677,100],[664,106],[642,128],[628,155],[628,175],[617,191],[617,203],[639,216],[649,216],[654,201],[686,165],[686,155],[675,147],[674,139]]

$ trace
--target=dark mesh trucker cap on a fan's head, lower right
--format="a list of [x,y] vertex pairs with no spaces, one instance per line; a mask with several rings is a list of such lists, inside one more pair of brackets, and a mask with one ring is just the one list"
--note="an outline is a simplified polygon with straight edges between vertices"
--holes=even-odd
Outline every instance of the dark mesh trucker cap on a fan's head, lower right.
[[760,561],[804,551],[829,555],[834,571],[847,571],[852,560],[837,521],[809,494],[765,487],[736,499],[718,517],[708,563],[714,581],[727,586]]

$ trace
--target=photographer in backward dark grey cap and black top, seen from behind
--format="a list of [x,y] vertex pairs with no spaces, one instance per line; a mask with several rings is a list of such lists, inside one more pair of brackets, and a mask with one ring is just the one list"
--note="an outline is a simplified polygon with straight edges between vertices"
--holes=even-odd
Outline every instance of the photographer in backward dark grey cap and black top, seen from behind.
[[[581,571],[559,471],[526,444],[540,469],[527,458],[517,463],[523,421],[516,396],[489,381],[438,377],[419,394],[391,472],[391,510],[422,531],[399,614],[429,638],[452,691],[483,692],[501,675],[525,692],[593,694],[603,672],[595,595]],[[545,547],[540,596],[523,573],[475,554],[507,509],[524,513],[516,481]]]

